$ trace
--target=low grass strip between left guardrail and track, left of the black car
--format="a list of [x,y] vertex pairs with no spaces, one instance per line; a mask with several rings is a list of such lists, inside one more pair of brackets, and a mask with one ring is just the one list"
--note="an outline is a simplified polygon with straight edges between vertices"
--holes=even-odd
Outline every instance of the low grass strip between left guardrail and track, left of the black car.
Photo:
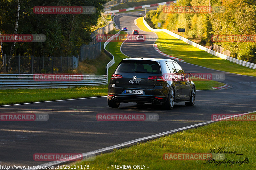
[[108,86],[0,90],[0,105],[107,96]]

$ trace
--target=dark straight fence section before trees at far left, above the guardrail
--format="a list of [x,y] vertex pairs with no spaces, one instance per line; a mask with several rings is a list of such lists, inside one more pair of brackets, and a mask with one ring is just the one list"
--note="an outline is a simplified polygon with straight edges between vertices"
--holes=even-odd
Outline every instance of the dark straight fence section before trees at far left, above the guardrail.
[[11,56],[4,55],[4,64],[0,73],[35,74],[35,73],[67,73],[69,69],[76,69],[78,56]]

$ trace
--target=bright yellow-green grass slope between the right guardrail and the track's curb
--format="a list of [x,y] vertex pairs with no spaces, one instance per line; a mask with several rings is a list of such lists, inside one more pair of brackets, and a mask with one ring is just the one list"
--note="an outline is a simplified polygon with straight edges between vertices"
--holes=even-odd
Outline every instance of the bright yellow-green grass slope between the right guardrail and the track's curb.
[[[143,18],[137,19],[137,26],[143,31],[150,31],[143,24]],[[155,32],[158,36],[157,47],[165,54],[178,57],[187,63],[200,65],[203,67],[227,71],[236,74],[256,76],[256,70],[232,63],[200,50],[188,43],[181,41],[164,32]]]

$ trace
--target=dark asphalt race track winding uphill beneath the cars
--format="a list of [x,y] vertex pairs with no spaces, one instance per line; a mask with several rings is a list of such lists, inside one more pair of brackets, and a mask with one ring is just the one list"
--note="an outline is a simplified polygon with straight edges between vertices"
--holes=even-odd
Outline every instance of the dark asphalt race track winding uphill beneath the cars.
[[[119,27],[138,29],[134,24],[136,13],[123,13],[115,17]],[[124,42],[124,54],[135,57],[159,57],[153,48],[152,32],[143,32],[145,42]],[[237,114],[252,112],[256,103],[256,78],[236,75],[179,62],[186,72],[225,73],[222,82],[232,85],[227,90],[196,92],[194,107],[185,103],[164,110],[162,105],[121,103],[118,109],[109,108],[107,97],[78,100],[41,102],[0,107],[0,113],[47,113],[48,121],[0,122],[0,164],[39,165],[47,161],[34,161],[34,153],[84,153],[127,142],[140,137],[177,129],[211,120],[212,114]],[[110,73],[112,74],[112,73]],[[157,113],[154,122],[99,122],[98,113]]]

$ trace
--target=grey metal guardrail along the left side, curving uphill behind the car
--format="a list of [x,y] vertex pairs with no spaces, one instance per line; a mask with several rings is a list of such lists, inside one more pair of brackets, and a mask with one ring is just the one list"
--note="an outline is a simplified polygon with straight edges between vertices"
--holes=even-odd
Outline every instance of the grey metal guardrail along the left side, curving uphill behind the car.
[[[106,85],[108,84],[108,69],[115,63],[114,56],[108,52],[105,47],[113,37],[118,36],[120,31],[109,38],[104,43],[104,52],[109,55],[112,60],[106,66],[106,75],[82,75],[80,80],[73,81],[40,81],[35,80],[34,74],[0,74],[0,89],[18,89],[18,88],[67,88],[81,85]],[[53,74],[52,74],[53,75]],[[72,76],[68,74],[69,76]],[[77,75],[73,75],[77,76]]]

